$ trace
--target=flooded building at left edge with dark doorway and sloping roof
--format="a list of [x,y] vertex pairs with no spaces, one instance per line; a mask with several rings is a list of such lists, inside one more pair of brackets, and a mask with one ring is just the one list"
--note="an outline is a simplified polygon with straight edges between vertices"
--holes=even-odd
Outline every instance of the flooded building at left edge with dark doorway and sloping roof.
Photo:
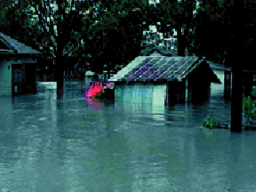
[[36,93],[36,58],[42,54],[0,33],[0,96]]

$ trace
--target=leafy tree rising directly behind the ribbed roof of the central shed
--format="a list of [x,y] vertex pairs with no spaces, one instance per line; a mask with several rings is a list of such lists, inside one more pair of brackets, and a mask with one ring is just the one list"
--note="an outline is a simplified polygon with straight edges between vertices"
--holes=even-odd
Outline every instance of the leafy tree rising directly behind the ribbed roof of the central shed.
[[[146,22],[157,25],[158,32],[164,34],[164,38],[173,36],[173,29],[178,33],[178,55],[185,56],[186,47],[190,44],[189,36],[192,34],[193,11],[196,10],[196,0],[160,1],[160,4],[149,6]],[[184,32],[181,32],[181,29]]]

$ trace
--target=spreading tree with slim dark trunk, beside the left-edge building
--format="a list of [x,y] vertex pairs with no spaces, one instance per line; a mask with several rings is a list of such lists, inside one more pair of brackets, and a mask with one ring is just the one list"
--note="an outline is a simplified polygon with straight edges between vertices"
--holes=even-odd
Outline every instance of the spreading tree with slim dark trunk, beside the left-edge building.
[[[30,23],[28,30],[30,30],[30,35],[33,36],[37,46],[44,52],[45,57],[51,56],[55,60],[56,73],[54,80],[57,81],[58,98],[60,98],[63,91],[62,63],[67,58],[68,53],[72,52],[80,44],[79,39],[81,40],[82,36],[95,35],[93,31],[97,29],[95,28],[97,15],[93,10],[97,9],[97,7],[92,2],[78,4],[75,1],[70,4],[64,1],[57,1],[56,4],[53,4],[55,6],[52,6],[50,1],[44,1],[43,3],[28,0],[27,3],[38,16],[34,23]],[[71,5],[69,12],[65,11],[68,5]],[[88,10],[92,12],[86,12],[85,15],[81,14],[81,12]],[[17,12],[13,12],[13,14],[19,16]],[[21,20],[19,17],[16,18]],[[15,18],[9,17],[9,20],[12,21]],[[35,23],[36,26],[33,25]]]

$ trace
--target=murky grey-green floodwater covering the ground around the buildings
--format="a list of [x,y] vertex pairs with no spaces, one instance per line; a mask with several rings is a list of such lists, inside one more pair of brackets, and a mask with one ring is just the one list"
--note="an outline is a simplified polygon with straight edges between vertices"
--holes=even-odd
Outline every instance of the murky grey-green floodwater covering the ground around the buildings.
[[0,191],[256,191],[256,133],[199,124],[228,119],[230,102],[167,108],[65,94],[0,99]]

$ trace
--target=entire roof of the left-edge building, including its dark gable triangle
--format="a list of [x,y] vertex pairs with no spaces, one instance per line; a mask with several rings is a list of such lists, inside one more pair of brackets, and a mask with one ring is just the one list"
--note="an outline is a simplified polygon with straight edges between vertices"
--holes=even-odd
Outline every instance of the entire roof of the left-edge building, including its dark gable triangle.
[[33,54],[42,55],[42,52],[32,49],[26,44],[20,43],[11,36],[6,36],[0,33],[0,53],[16,53],[16,54]]

